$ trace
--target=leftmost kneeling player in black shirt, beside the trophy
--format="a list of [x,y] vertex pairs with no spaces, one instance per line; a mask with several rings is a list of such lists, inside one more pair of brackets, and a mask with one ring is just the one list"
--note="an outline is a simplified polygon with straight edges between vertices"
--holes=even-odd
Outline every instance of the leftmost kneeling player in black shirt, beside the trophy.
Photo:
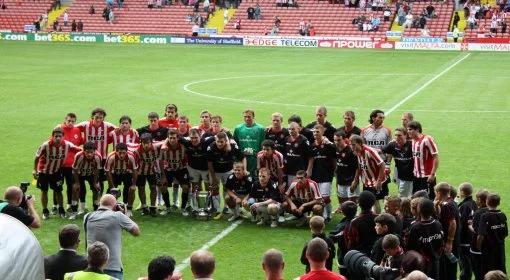
[[225,204],[230,208],[232,217],[228,219],[229,222],[237,220],[241,217],[241,206],[243,202],[246,202],[248,194],[251,192],[253,182],[251,176],[249,176],[244,170],[244,164],[242,162],[234,163],[234,174],[231,174],[227,178],[225,183],[225,189],[227,190],[227,196],[225,197]]

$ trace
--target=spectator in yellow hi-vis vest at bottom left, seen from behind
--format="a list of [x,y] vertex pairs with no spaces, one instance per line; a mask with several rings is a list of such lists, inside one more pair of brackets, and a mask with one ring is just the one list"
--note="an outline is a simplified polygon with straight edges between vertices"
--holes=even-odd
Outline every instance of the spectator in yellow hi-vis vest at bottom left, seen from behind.
[[[110,257],[110,250],[103,242],[96,241],[89,245],[87,248],[87,263],[88,266],[85,270],[66,273],[65,280],[73,279],[103,279],[106,275],[103,272],[108,259]],[[117,279],[109,277],[110,279]]]

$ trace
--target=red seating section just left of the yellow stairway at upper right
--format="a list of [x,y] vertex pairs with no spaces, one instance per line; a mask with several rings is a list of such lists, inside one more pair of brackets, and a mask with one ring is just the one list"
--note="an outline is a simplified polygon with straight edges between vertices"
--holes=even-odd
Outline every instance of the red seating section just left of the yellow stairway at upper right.
[[[417,18],[423,9],[425,9],[430,2],[413,2],[413,15]],[[450,22],[452,20],[455,5],[448,1],[446,2],[433,2],[435,14],[437,18],[427,20],[427,28],[430,31],[431,37],[446,37]],[[421,29],[419,28],[404,28],[404,36],[407,37],[420,37]]]

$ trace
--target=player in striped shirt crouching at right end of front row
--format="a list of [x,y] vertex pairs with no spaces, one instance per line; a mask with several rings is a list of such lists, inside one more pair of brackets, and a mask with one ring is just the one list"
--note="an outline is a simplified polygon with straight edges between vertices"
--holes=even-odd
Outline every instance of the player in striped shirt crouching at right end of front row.
[[299,170],[287,192],[283,207],[300,221],[296,226],[303,226],[307,222],[306,213],[322,214],[322,197],[317,183],[306,178],[306,171]]

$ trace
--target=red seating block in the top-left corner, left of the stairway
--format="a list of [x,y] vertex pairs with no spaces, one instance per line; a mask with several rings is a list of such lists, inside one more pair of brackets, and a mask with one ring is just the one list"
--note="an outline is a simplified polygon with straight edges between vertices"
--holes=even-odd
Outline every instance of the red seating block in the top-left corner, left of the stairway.
[[0,30],[23,32],[25,24],[32,24],[51,8],[52,0],[5,0],[0,9]]

